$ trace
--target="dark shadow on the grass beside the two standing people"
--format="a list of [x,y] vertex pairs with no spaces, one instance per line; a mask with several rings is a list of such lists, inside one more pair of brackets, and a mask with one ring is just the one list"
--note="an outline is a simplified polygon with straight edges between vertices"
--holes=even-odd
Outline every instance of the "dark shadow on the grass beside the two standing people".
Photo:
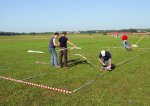
[[73,67],[78,64],[89,64],[86,60],[80,60],[80,59],[72,59],[72,60],[69,60],[67,63],[69,67]]

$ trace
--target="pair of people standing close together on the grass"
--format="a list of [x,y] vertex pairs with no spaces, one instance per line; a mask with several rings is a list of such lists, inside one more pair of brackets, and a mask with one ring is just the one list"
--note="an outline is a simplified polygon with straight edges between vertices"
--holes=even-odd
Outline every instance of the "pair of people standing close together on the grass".
[[[71,43],[68,38],[66,37],[67,33],[66,32],[62,32],[62,36],[58,39],[58,43],[56,43],[56,39],[59,37],[59,33],[54,33],[54,36],[50,39],[50,43],[49,43],[49,51],[51,53],[51,65],[55,66],[55,67],[65,67],[67,68],[67,60],[68,60],[68,50],[67,50],[67,43],[69,43],[70,45],[72,45],[74,48],[76,48],[76,46]],[[57,53],[55,48],[59,47],[60,51],[59,51],[59,64],[58,64],[58,58],[57,58]],[[64,57],[64,64],[63,64],[63,59]]]

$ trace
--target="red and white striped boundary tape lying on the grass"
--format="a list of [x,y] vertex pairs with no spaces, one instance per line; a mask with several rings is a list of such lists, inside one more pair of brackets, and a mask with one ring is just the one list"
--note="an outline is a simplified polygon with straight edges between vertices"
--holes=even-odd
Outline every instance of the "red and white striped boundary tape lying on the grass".
[[54,91],[62,92],[62,93],[72,93],[72,91],[67,91],[67,90],[63,90],[63,89],[48,87],[48,86],[44,86],[44,85],[40,85],[40,84],[34,84],[34,83],[25,82],[25,81],[22,81],[22,80],[16,80],[16,79],[13,79],[13,78],[8,78],[8,77],[3,77],[3,76],[0,76],[0,79],[10,80],[10,81],[14,81],[14,82],[22,83],[22,84],[27,84],[27,85],[30,85],[30,86],[36,86],[36,87],[40,87],[40,88],[44,88],[44,89],[48,89],[48,90],[54,90]]

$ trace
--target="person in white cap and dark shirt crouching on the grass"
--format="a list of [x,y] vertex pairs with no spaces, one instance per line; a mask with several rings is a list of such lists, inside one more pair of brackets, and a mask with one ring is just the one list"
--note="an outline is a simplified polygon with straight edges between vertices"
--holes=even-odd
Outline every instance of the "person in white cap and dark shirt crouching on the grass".
[[[111,54],[108,51],[102,50],[99,54],[99,61],[106,70],[111,70]],[[107,62],[107,65],[105,64]]]

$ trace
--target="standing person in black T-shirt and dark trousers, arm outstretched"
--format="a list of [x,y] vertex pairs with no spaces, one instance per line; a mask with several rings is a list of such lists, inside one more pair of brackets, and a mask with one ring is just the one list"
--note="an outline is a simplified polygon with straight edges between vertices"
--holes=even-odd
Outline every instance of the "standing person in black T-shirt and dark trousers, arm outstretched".
[[72,45],[73,47],[76,47],[73,43],[71,43],[68,38],[66,37],[67,33],[66,32],[62,32],[62,36],[59,38],[59,42],[58,45],[60,46],[60,59],[59,59],[59,63],[60,63],[60,67],[63,66],[62,63],[62,58],[64,56],[64,67],[67,68],[67,59],[68,59],[68,54],[67,54],[67,43],[69,43],[70,45]]

